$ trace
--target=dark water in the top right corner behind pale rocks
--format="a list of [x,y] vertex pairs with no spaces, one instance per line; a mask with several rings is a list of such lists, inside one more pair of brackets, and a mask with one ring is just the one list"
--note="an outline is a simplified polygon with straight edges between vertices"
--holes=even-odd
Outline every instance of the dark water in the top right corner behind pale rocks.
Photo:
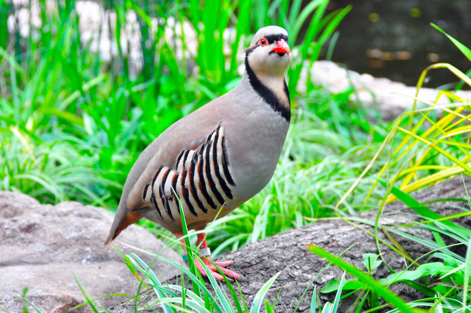
[[[422,70],[436,62],[450,63],[466,72],[471,63],[429,25],[471,48],[471,0],[332,0],[330,12],[351,4],[339,25],[333,61],[359,73],[415,85]],[[428,76],[428,87],[458,79],[445,69]]]

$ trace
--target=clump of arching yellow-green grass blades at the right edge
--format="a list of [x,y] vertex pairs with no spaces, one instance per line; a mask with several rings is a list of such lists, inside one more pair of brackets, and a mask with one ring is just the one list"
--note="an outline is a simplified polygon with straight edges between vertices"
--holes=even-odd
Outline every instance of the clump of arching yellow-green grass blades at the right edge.
[[[435,25],[432,26],[444,33]],[[447,33],[444,34],[453,41],[466,57],[471,55],[468,48]],[[464,115],[466,111],[469,112],[470,110],[469,101],[450,91],[440,91],[433,103],[418,98],[426,75],[430,70],[439,68],[446,68],[461,79],[463,83],[471,87],[471,79],[450,64],[438,63],[428,66],[417,82],[417,92],[413,97],[413,110],[399,116],[377,153],[380,154],[382,148],[387,144],[391,144],[391,147],[395,146],[391,151],[392,153],[390,153],[389,160],[382,166],[377,176],[381,178],[384,173],[387,173],[388,176],[391,176],[389,184],[393,185],[396,182],[401,182],[399,189],[406,193],[430,186],[458,173],[471,175],[471,166],[469,164],[471,155],[468,152],[471,148],[471,127],[469,125],[471,115]],[[457,88],[461,89],[461,86],[457,86]],[[441,97],[448,97],[451,104],[438,106],[437,103]],[[428,107],[417,109],[417,101],[423,102]],[[442,114],[437,114],[437,109],[440,109],[439,112],[442,112]],[[430,123],[430,127],[427,127],[425,123]],[[393,139],[401,135],[404,135],[403,139],[395,145]],[[371,161],[370,165],[374,162],[375,159]],[[366,171],[358,177],[357,182],[361,180],[365,173]],[[349,190],[353,190],[354,187],[355,184]],[[371,190],[375,187],[376,183],[373,184]],[[337,207],[348,195],[347,192],[341,198]],[[397,196],[393,193],[386,198],[386,202],[396,198]]]

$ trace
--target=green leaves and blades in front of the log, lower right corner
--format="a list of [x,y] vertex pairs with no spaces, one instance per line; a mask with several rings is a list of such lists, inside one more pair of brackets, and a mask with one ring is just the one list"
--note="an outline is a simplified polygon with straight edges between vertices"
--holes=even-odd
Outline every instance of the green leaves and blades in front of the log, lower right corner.
[[[463,187],[466,189],[465,185]],[[364,264],[366,267],[366,271],[364,271],[331,255],[322,248],[311,246],[309,247],[311,251],[321,257],[325,257],[334,265],[345,269],[349,274],[357,278],[357,280],[346,280],[343,283],[339,280],[331,280],[322,288],[321,293],[338,292],[338,290],[347,291],[347,295],[350,297],[357,297],[359,302],[357,312],[362,310],[366,310],[365,312],[374,312],[385,308],[386,305],[382,305],[381,302],[378,301],[379,297],[394,308],[388,312],[423,312],[418,309],[416,309],[416,311],[405,309],[404,305],[406,305],[406,303],[398,299],[397,296],[394,296],[388,288],[392,284],[405,282],[424,295],[423,299],[408,303],[407,305],[409,307],[431,307],[432,311],[429,312],[468,312],[471,308],[471,301],[468,297],[469,281],[471,279],[470,231],[462,226],[456,225],[454,222],[446,219],[443,220],[442,216],[429,210],[427,206],[431,204],[420,204],[414,200],[414,198],[396,187],[393,187],[391,191],[400,201],[414,210],[418,216],[424,221],[427,221],[427,223],[414,222],[412,224],[397,226],[381,225],[381,227],[388,233],[395,235],[396,238],[398,236],[405,237],[418,245],[430,248],[430,252],[420,256],[416,260],[411,260],[408,255],[405,255],[407,267],[403,271],[394,272],[389,267],[391,274],[388,277],[381,280],[374,280],[371,277],[374,268],[378,267],[384,261],[384,259],[380,260],[380,255],[364,255]],[[470,198],[468,196],[467,203],[464,202],[463,204],[469,205],[469,203]],[[470,214],[469,206],[466,207],[463,205],[459,207],[463,210],[463,214]],[[361,221],[356,220],[355,222]],[[366,220],[364,220],[363,223],[377,227],[378,220],[374,224]],[[409,227],[410,229],[408,232],[405,232],[401,230],[403,227]],[[430,231],[434,239],[428,239],[418,234],[416,235],[414,234],[414,229]],[[446,237],[454,239],[455,243],[446,245],[444,242],[444,238]],[[386,243],[391,246],[393,245],[393,242]],[[467,247],[465,255],[456,254],[449,249],[459,246]],[[400,249],[406,251],[402,247],[400,247]],[[374,266],[371,264],[374,264]],[[340,288],[340,286],[342,287]],[[437,311],[439,308],[443,311]]]

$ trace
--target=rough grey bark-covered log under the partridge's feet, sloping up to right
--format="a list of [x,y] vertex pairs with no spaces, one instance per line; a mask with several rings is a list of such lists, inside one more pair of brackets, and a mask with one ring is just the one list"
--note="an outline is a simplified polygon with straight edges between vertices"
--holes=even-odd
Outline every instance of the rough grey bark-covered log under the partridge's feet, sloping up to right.
[[[465,177],[465,183],[467,186],[471,186],[471,178]],[[413,196],[417,201],[423,203],[445,198],[466,199],[466,192],[463,186],[463,180],[461,176],[459,176],[417,192]],[[462,212],[462,210],[457,208],[456,202],[453,201],[437,202],[427,206],[442,216]],[[463,202],[460,203],[460,206],[468,207],[468,205]],[[369,211],[364,214],[359,214],[358,216],[374,221],[375,214],[376,211]],[[395,201],[385,206],[380,223],[382,225],[398,225],[419,220],[421,219],[414,211],[406,208],[402,202]],[[471,216],[455,220],[454,222],[470,228]],[[297,312],[309,312],[314,284],[317,285],[317,290],[320,291],[328,281],[340,279],[343,271],[331,265],[316,277],[317,273],[328,263],[324,259],[309,252],[307,246],[314,244],[334,255],[340,255],[344,252],[341,256],[342,259],[350,264],[354,264],[357,268],[364,269],[363,255],[365,253],[378,253],[378,250],[374,237],[367,233],[367,231],[374,233],[374,228],[366,224],[356,223],[356,225],[363,229],[341,219],[328,219],[315,222],[241,247],[237,251],[223,255],[222,258],[225,260],[234,260],[235,264],[230,268],[235,272],[243,274],[247,279],[239,283],[245,302],[249,308],[257,291],[277,272],[281,273],[266,296],[266,299],[273,305],[281,288],[276,306],[274,307],[274,312],[276,313],[294,312],[302,294],[306,288],[308,288],[311,281],[314,280],[314,283],[310,285],[306,296],[302,299],[297,310]],[[401,230],[432,238],[428,231],[410,228]],[[410,239],[406,239],[402,236],[392,236],[405,248],[412,259],[416,259],[430,251],[430,248],[424,247]],[[390,241],[381,230],[379,231],[379,237],[388,242]],[[392,269],[401,271],[405,268],[406,262],[402,256],[393,252],[384,244],[380,244],[380,246],[382,253],[384,253],[385,261]],[[464,249],[463,247],[457,248],[454,251],[464,255],[465,247]],[[390,271],[384,264],[380,265],[374,271],[374,277],[376,279],[384,278],[389,274]],[[168,283],[176,283],[177,279],[178,278],[170,280]],[[230,295],[225,284],[221,284],[221,288],[224,289],[227,295]],[[423,295],[420,295],[415,289],[405,284],[393,284],[391,289],[406,301],[423,297]],[[333,294],[320,294],[323,304],[326,301],[332,301],[333,296]],[[148,294],[140,298],[143,302],[148,302],[152,299],[154,299],[153,294]],[[342,300],[339,312],[349,312],[352,301],[353,297]],[[138,305],[138,307],[140,306],[142,305]],[[159,310],[157,307],[154,309]],[[134,312],[134,303],[115,305],[110,308],[109,311],[113,313]],[[146,310],[144,312],[152,311]]]

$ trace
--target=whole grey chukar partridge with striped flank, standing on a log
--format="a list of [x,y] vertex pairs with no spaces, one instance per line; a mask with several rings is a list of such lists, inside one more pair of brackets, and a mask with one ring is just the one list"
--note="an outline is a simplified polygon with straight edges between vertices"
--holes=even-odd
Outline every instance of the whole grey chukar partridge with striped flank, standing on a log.
[[[177,196],[188,229],[201,229],[252,198],[273,176],[290,122],[290,98],[284,72],[291,64],[288,33],[261,28],[245,50],[245,73],[231,91],[181,118],[138,157],[124,184],[106,243],[146,217],[182,236]],[[174,194],[172,189],[175,190]],[[223,206],[224,205],[224,206]],[[204,234],[200,255],[211,274]],[[186,252],[186,250],[185,250]],[[216,262],[228,277],[240,275]],[[201,274],[206,275],[196,260]]]

